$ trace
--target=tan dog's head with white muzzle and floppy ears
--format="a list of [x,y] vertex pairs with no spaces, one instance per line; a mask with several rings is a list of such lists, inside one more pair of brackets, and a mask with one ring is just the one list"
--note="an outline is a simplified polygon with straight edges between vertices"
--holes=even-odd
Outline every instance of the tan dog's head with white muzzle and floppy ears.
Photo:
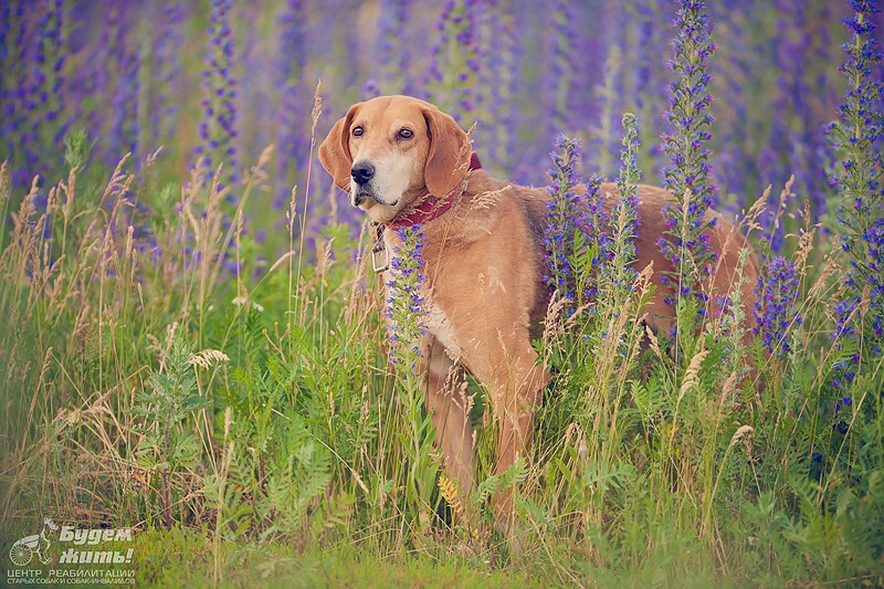
[[444,197],[470,166],[470,139],[449,115],[410,96],[355,104],[319,146],[319,161],[350,203],[377,222],[425,194]]

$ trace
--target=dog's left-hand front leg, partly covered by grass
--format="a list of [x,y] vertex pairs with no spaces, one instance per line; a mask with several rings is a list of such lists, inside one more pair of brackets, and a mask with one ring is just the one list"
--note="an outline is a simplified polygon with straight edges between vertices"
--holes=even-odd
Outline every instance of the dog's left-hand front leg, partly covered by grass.
[[445,456],[445,473],[457,481],[462,497],[469,496],[475,482],[473,428],[470,424],[472,400],[466,395],[463,368],[432,338],[427,360],[427,411],[435,427],[435,444]]

